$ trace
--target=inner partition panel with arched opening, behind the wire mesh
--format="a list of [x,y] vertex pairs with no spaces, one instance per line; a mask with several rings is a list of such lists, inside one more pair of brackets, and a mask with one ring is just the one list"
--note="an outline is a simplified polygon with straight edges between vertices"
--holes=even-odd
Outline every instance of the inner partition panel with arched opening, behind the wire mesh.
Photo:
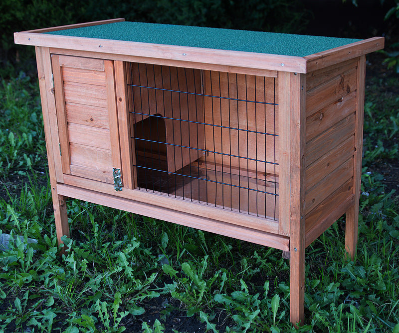
[[[154,141],[166,143],[169,172],[197,160],[204,149],[203,99],[196,95],[201,93],[200,70],[132,63],[131,77],[132,123],[141,128],[140,122],[150,118],[145,123],[149,128],[142,130],[147,132],[147,141],[140,144],[142,138],[135,135],[136,144],[144,146],[143,149],[147,145],[146,150],[152,151]],[[151,130],[161,125],[165,129]],[[164,140],[159,135],[162,131],[166,132]]]

